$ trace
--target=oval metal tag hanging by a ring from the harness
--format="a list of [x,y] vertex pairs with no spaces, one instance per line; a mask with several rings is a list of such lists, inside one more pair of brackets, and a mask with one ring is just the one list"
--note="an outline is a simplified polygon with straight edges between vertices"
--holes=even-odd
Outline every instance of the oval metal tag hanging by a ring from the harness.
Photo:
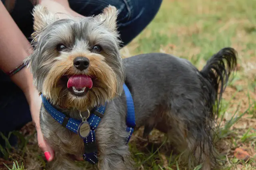
[[90,134],[90,124],[88,123],[87,119],[90,116],[90,111],[87,110],[86,116],[82,118],[82,114],[80,111],[80,117],[82,118],[82,122],[78,126],[78,135],[80,138],[85,139]]

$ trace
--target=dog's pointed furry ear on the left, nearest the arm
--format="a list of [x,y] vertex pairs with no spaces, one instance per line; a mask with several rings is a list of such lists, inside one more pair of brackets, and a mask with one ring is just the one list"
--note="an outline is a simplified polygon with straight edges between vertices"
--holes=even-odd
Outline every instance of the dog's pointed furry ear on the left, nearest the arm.
[[54,14],[50,13],[46,7],[41,5],[36,5],[33,9],[32,13],[34,17],[34,33],[32,33],[31,37],[34,39],[47,25],[50,25],[57,18]]

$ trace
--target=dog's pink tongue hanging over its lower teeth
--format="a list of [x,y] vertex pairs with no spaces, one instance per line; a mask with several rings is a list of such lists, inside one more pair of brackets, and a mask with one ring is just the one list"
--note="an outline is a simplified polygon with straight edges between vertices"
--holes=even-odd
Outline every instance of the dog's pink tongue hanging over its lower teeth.
[[76,89],[92,88],[92,78],[86,75],[74,75],[68,79],[68,88],[75,87]]

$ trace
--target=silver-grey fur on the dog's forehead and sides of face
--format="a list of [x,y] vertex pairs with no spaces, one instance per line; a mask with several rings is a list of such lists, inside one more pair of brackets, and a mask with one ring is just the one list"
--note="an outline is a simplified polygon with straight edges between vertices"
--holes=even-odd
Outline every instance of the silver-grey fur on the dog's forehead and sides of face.
[[[30,65],[38,91],[42,92],[44,78],[51,68],[49,61],[53,61],[59,55],[55,50],[56,45],[68,45],[66,52],[83,52],[90,51],[93,45],[97,44],[101,45],[108,55],[106,62],[114,69],[121,83],[124,80],[124,67],[119,53],[119,43],[118,34],[110,32],[95,18],[86,17],[79,22],[71,19],[57,20],[45,27],[44,31],[38,35],[38,40],[32,44],[35,51],[26,59],[26,63]],[[117,92],[122,92],[122,84],[119,84],[118,87]],[[104,102],[101,101],[97,104],[104,104]]]

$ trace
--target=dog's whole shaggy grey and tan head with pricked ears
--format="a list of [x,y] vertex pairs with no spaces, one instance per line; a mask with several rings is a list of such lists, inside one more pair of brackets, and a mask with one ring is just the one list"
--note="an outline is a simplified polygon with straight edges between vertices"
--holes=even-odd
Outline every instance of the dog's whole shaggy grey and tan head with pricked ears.
[[36,6],[33,16],[34,51],[25,63],[52,104],[82,111],[121,94],[125,73],[115,7],[94,17],[60,20]]

